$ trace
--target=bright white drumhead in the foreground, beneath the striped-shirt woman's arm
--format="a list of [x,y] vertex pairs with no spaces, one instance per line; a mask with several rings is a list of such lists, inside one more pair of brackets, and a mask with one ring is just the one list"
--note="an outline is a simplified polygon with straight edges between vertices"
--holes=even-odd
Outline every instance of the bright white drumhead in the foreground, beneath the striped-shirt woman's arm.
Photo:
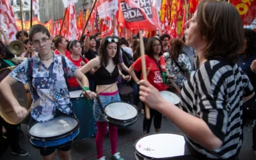
[[134,143],[138,154],[156,159],[184,156],[184,148],[184,136],[168,132],[148,134]]

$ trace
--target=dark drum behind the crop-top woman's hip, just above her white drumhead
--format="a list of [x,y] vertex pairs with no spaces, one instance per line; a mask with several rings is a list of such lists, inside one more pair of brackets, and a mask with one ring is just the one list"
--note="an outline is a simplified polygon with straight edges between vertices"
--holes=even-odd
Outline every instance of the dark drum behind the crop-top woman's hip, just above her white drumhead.
[[122,86],[118,92],[123,101],[133,103],[134,89],[131,86]]

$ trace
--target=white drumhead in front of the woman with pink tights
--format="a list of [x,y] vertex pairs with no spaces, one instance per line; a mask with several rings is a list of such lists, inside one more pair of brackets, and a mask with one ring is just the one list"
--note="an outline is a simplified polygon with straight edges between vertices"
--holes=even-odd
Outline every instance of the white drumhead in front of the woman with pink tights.
[[138,115],[138,110],[129,103],[113,102],[106,106],[105,114],[118,120],[130,120]]

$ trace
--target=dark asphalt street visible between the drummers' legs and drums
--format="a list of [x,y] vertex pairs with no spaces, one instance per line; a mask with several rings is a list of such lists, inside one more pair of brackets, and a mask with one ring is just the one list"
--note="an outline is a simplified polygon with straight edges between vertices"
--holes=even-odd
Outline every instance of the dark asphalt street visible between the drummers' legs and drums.
[[[118,130],[118,152],[121,153],[122,157],[124,157],[125,160],[134,160],[134,148],[133,145],[135,141],[140,138],[143,134],[142,132],[142,122],[143,117],[141,113],[139,113],[138,120],[135,124],[133,124],[131,127],[125,128],[125,129],[119,129]],[[42,159],[40,157],[40,153],[36,148],[33,148],[31,144],[28,141],[28,136],[26,136],[27,133],[27,127],[28,125],[22,124],[22,131],[24,132],[25,136],[24,138],[20,138],[20,146],[27,150],[29,152],[28,156],[25,157],[19,157],[19,156],[13,156],[11,154],[10,147],[8,150],[4,153],[4,156],[0,159],[6,159],[6,160],[31,160],[31,159]],[[161,131],[163,132],[179,132],[179,129],[175,127],[172,122],[168,120],[162,121],[162,128]],[[154,125],[152,122],[152,127],[150,133],[154,132]],[[255,160],[256,156],[253,154],[252,150],[252,122],[248,125],[248,127],[244,127],[244,142],[243,147],[241,149],[239,160]],[[104,156],[109,158],[109,155],[111,154],[111,147],[110,147],[110,141],[108,134],[105,137],[104,140]],[[74,141],[72,144],[72,160],[95,160],[96,158],[96,147],[95,147],[95,138],[88,138],[87,140],[77,140]],[[56,159],[59,160],[59,157],[56,154]]]

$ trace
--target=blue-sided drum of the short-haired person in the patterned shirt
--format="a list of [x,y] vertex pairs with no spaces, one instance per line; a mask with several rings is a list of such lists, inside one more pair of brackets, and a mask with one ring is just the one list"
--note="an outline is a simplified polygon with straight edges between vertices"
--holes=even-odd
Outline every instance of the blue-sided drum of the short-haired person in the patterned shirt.
[[72,143],[79,134],[74,116],[56,116],[47,122],[35,122],[28,131],[29,142],[36,148],[60,148]]

